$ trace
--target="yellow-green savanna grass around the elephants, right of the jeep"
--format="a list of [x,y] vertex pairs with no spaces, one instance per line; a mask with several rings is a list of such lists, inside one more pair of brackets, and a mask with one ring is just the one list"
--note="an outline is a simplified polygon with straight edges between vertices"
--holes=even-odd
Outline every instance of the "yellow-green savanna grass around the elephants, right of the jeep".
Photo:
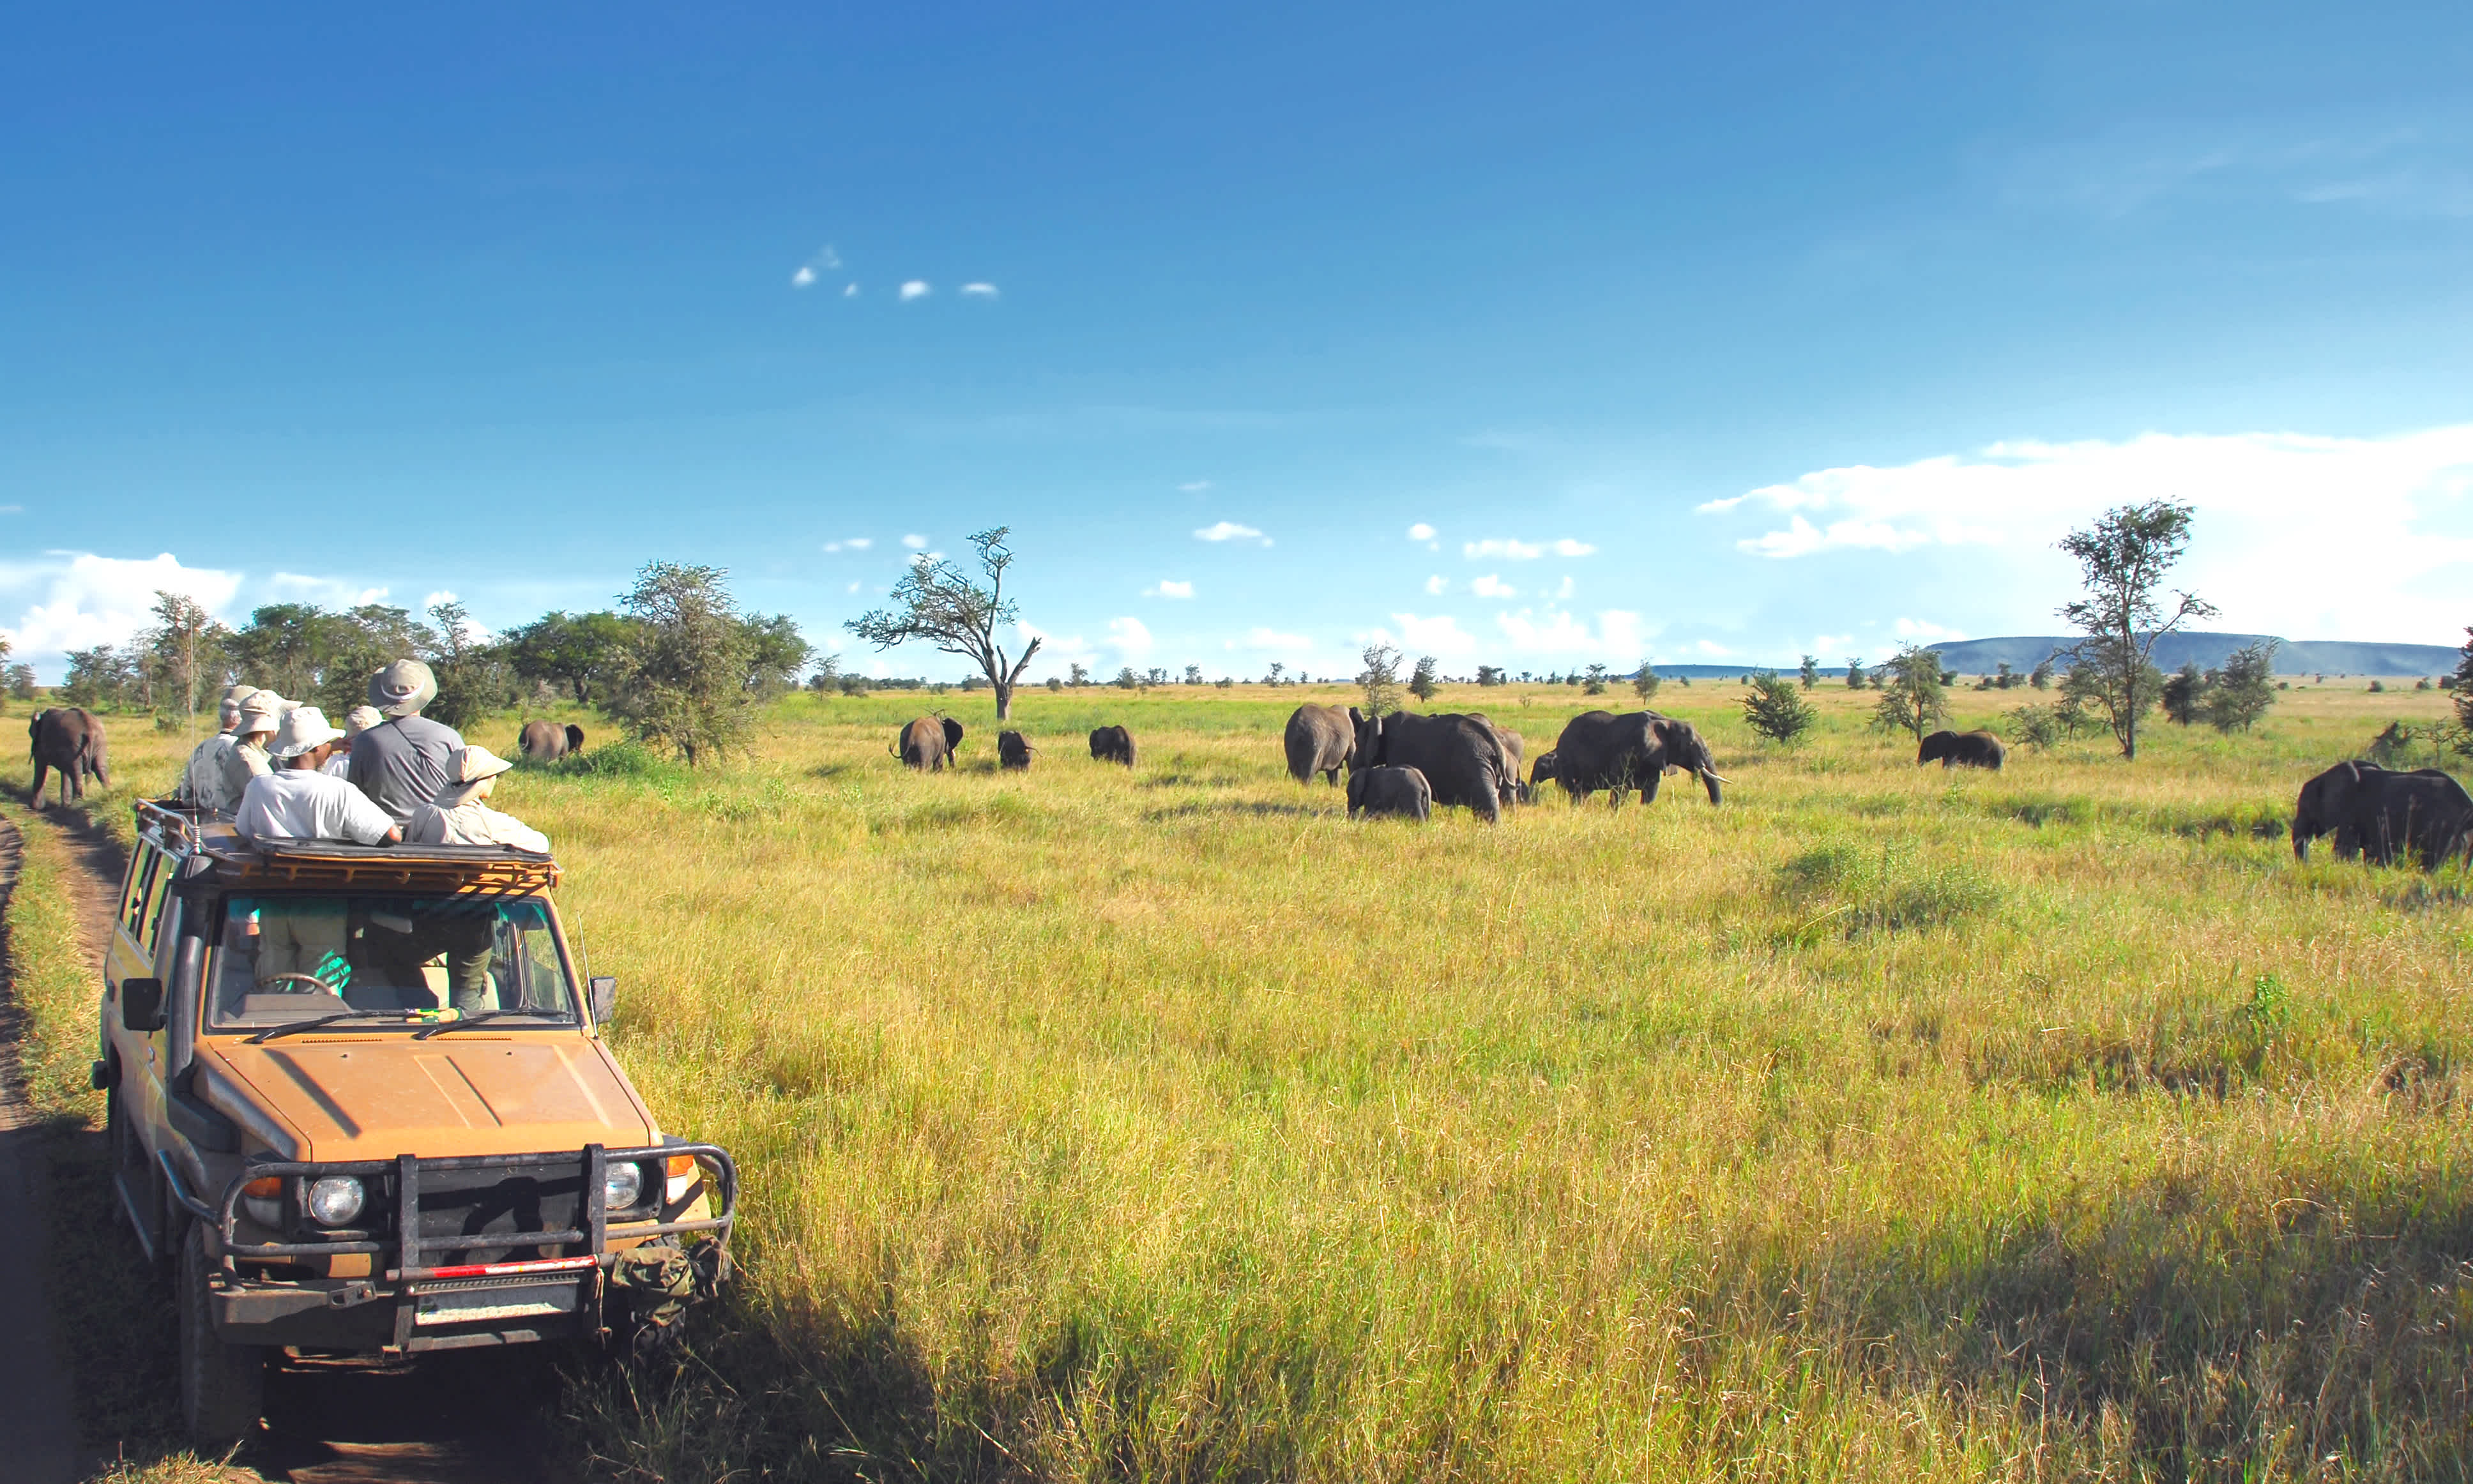
[[[2466,881],[2278,834],[2443,697],[1971,774],[1734,693],[1659,695],[1724,809],[1501,829],[1288,782],[1335,690],[1026,693],[1026,777],[960,693],[514,774],[631,1073],[747,1172],[697,1358],[574,1383],[603,1472],[2473,1472]],[[908,774],[932,705],[962,767]],[[1442,705],[1536,754],[1593,702]]]

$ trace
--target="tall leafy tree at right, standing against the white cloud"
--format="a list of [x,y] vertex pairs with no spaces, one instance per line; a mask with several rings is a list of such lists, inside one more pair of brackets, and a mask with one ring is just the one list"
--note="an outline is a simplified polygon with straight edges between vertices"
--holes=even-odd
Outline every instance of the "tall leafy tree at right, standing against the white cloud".
[[2156,601],[2164,574],[2189,549],[2189,505],[2176,500],[2119,505],[2060,542],[2077,556],[2087,586],[2087,596],[2060,606],[2060,616],[2087,633],[2067,658],[2095,680],[2097,702],[2129,762],[2139,757],[2139,720],[2161,695],[2152,658],[2156,641],[2191,618],[2216,616],[2216,606],[2196,594],[2176,591],[2171,613]]

